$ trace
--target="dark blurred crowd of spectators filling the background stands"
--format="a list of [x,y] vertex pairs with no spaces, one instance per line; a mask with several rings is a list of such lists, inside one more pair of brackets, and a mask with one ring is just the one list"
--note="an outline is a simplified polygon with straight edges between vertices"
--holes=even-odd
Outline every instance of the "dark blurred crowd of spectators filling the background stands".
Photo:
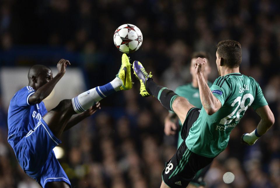
[[[254,130],[260,120],[248,109],[232,130],[227,149],[207,173],[206,187],[279,188],[279,13],[276,0],[2,0],[0,65],[52,66],[60,58],[70,58],[71,66],[83,69],[88,88],[104,85],[114,78],[121,63],[113,33],[118,26],[131,23],[141,29],[143,44],[130,58],[152,71],[157,83],[175,89],[190,82],[192,52],[211,55],[209,79],[213,82],[218,77],[216,44],[237,40],[242,47],[240,71],[260,83],[276,121],[255,145],[241,145],[241,135]],[[38,57],[46,58],[38,59],[24,54],[27,48],[68,55],[57,57],[44,51],[46,55],[38,53]],[[163,132],[168,111],[153,97],[141,98],[139,83],[134,81],[132,90],[102,100],[99,112],[64,132],[60,146],[65,155],[60,163],[72,187],[160,187],[162,170],[176,151],[177,139]],[[38,187],[24,174],[8,145],[7,108],[1,100],[0,128],[0,187]],[[231,184],[223,182],[228,171],[235,175]]]

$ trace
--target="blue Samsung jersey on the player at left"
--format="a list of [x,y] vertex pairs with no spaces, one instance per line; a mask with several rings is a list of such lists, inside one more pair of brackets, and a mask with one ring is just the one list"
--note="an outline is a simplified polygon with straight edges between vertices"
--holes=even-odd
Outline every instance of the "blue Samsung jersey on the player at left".
[[8,109],[8,142],[14,146],[27,134],[32,133],[38,121],[47,113],[44,102],[30,105],[28,100],[35,90],[26,86],[10,101]]

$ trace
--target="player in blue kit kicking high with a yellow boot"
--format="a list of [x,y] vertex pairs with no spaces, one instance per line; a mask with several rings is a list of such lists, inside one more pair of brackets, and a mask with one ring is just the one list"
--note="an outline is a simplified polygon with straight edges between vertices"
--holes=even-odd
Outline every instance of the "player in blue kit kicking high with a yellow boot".
[[24,172],[44,188],[71,187],[53,152],[61,143],[62,132],[100,109],[99,100],[132,87],[131,65],[123,54],[122,65],[113,81],[62,100],[47,112],[42,100],[65,74],[67,65],[70,65],[68,60],[60,60],[55,77],[47,66],[32,66],[28,72],[28,86],[15,93],[8,109],[8,142]]

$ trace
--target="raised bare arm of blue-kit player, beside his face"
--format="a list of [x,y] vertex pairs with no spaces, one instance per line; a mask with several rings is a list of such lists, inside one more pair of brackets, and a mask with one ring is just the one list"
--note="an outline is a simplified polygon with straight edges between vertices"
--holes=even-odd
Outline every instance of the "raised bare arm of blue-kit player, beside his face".
[[30,105],[38,104],[50,95],[57,82],[65,74],[65,69],[67,65],[70,65],[69,61],[64,59],[61,59],[57,63],[57,69],[58,69],[57,75],[53,79],[48,81],[46,84],[38,88],[36,92],[29,97],[28,102]]

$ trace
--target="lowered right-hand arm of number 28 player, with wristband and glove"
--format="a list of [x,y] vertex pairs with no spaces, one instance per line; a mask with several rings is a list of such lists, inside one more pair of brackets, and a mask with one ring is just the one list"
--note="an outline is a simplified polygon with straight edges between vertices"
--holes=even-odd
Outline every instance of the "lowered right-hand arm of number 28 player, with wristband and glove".
[[261,117],[258,127],[251,133],[243,134],[241,136],[242,143],[253,145],[274,124],[274,115],[268,105],[256,109],[256,112]]

